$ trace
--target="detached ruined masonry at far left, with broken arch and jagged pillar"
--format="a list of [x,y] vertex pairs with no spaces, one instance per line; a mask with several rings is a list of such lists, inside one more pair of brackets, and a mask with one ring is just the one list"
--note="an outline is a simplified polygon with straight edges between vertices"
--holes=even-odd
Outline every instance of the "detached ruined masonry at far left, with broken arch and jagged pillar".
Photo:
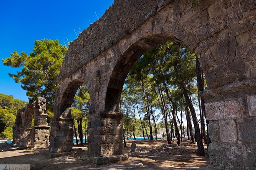
[[[34,114],[34,126],[31,125]],[[39,97],[17,112],[13,127],[13,145],[18,147],[49,147],[46,99]]]

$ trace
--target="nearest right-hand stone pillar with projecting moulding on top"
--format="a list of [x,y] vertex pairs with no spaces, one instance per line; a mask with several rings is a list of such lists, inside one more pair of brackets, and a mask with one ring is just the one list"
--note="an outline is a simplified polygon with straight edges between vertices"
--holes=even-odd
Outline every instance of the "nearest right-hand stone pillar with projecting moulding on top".
[[212,143],[212,169],[256,167],[256,80],[230,83],[201,93]]

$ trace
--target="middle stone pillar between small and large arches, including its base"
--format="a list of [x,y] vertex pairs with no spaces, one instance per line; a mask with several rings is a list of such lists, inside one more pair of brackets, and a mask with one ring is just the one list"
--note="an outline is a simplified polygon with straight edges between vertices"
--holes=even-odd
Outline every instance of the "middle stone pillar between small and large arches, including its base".
[[127,160],[123,144],[123,114],[99,112],[89,115],[88,152],[82,158],[93,164]]

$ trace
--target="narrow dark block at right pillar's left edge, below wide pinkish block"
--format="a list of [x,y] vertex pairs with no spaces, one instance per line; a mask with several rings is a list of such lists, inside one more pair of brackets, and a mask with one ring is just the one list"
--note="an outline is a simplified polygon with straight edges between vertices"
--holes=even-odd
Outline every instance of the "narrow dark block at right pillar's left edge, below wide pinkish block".
[[208,131],[212,142],[220,142],[219,121],[209,121]]

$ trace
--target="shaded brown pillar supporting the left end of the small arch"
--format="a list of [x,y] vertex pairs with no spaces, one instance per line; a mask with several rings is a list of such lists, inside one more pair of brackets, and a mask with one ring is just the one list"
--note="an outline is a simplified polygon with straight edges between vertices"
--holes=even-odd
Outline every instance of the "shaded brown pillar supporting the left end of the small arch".
[[73,147],[73,123],[71,118],[51,120],[50,152],[70,152]]

